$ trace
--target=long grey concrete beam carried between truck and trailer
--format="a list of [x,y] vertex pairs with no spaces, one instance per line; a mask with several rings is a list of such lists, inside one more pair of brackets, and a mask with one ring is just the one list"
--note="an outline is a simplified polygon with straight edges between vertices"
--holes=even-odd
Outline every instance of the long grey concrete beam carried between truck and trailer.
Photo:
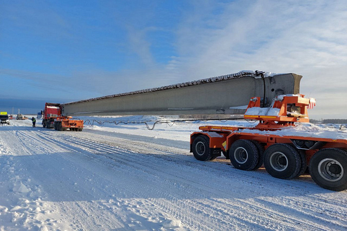
[[[298,94],[302,76],[265,78],[266,104],[283,94]],[[170,86],[63,104],[63,115],[216,115],[243,114],[240,106],[263,97],[263,81],[254,72],[239,72]]]

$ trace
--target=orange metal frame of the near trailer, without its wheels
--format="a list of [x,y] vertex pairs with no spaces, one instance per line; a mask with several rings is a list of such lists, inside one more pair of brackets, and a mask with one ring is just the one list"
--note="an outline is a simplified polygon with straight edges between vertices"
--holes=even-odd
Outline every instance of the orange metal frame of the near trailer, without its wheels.
[[[305,137],[305,136],[279,136],[273,134],[259,134],[257,131],[262,130],[279,130],[285,126],[294,126],[294,122],[308,122],[309,118],[307,115],[307,106],[310,100],[303,98],[303,95],[299,96],[286,96],[283,100],[275,100],[272,104],[273,108],[279,109],[278,116],[267,116],[267,115],[244,115],[247,119],[258,119],[259,124],[255,127],[229,127],[229,126],[200,126],[201,131],[197,131],[191,134],[190,144],[193,143],[194,139],[198,135],[206,135],[209,137],[210,148],[220,148],[222,151],[227,151],[231,144],[238,139],[256,140],[257,142],[264,145],[267,149],[274,143],[293,143],[293,140],[312,140],[321,141],[322,145],[320,148],[337,147],[347,149],[346,139],[330,139],[330,138],[316,138],[316,137]],[[300,109],[300,114],[291,115],[287,112],[289,107],[295,106],[296,109]],[[259,107],[260,98],[254,97],[251,99],[248,108]],[[299,115],[299,116],[298,116]],[[242,132],[242,129],[254,130],[254,133]],[[210,135],[210,132],[216,132],[221,137]],[[319,149],[305,149],[307,161],[318,151]]]

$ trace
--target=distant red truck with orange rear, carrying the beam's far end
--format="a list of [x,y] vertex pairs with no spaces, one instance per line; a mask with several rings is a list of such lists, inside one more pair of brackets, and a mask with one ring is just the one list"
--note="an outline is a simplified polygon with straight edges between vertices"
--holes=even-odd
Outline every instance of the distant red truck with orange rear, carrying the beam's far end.
[[83,120],[72,119],[71,116],[61,115],[61,105],[46,103],[43,111],[42,126],[65,131],[68,128],[72,131],[82,131]]

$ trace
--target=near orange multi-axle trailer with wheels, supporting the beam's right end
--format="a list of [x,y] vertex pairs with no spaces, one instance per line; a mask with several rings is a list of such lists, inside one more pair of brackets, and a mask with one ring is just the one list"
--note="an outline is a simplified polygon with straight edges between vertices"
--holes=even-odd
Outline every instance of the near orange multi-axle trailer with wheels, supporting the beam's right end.
[[346,190],[347,139],[299,136],[286,131],[295,122],[309,122],[307,107],[313,99],[279,96],[269,108],[261,108],[260,101],[259,97],[252,98],[244,115],[245,119],[259,120],[256,126],[200,126],[201,131],[190,136],[190,152],[201,161],[223,153],[235,168],[245,171],[264,164],[271,176],[280,179],[299,177],[309,167],[319,186]]

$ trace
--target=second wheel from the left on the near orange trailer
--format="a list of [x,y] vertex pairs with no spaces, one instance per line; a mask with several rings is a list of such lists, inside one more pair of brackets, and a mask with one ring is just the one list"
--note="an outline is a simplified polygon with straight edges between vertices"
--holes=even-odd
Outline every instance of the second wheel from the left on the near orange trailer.
[[252,141],[239,139],[231,144],[229,158],[235,168],[250,171],[257,166],[259,154]]

